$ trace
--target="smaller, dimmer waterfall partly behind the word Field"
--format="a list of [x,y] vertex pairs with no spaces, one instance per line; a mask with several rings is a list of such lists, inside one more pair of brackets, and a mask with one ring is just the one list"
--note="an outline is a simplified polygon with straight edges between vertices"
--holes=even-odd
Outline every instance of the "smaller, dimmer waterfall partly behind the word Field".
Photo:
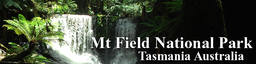
[[[135,18],[119,19],[116,22],[116,37],[128,37],[129,43],[132,40],[136,40],[136,23]],[[116,43],[116,42],[115,42]],[[135,64],[137,62],[137,56],[135,50],[132,48],[125,48],[125,42],[123,40],[123,46],[121,49],[115,48],[116,57],[112,60],[112,64]]]

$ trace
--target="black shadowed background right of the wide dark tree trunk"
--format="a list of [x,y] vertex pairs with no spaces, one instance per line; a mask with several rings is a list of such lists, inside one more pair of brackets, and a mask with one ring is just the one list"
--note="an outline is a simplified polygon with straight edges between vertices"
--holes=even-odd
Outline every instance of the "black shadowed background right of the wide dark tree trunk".
[[[241,4],[241,5],[240,5]],[[243,2],[243,1],[228,1],[222,0],[223,11],[224,11],[224,19],[226,21],[226,29],[228,39],[230,40],[243,40],[242,37],[248,37],[250,40],[254,40],[255,31],[252,29],[254,26],[253,22],[253,14],[255,14],[255,10],[253,10],[252,2]],[[243,9],[239,9],[243,8]],[[250,43],[253,47],[255,43]],[[252,51],[255,50],[245,49],[245,48],[235,48],[230,49],[230,51],[239,51],[244,54],[244,61],[230,61],[234,64],[255,64],[254,58],[256,57]]]

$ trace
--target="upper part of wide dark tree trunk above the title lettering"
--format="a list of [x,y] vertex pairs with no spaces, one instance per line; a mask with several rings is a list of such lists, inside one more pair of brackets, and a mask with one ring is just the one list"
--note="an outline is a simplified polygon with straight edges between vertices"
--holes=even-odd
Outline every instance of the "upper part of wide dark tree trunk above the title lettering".
[[184,27],[188,39],[226,37],[219,0],[183,0],[183,7]]

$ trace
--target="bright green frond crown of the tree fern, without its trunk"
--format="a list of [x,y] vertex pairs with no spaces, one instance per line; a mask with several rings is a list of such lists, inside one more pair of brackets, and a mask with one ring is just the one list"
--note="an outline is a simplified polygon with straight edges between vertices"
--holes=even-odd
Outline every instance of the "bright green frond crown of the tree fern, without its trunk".
[[[31,21],[26,20],[23,15],[18,16],[19,20],[4,20],[10,25],[3,25],[3,27],[7,27],[7,30],[14,30],[17,35],[24,34],[28,41],[46,41],[47,40],[56,40],[56,39],[43,39],[45,37],[57,38],[58,40],[62,40],[62,35],[65,33],[52,31],[56,26],[50,27],[46,25],[49,20],[42,19],[40,17],[35,17]],[[48,27],[48,28],[47,28]],[[51,30],[48,32],[47,30]]]

